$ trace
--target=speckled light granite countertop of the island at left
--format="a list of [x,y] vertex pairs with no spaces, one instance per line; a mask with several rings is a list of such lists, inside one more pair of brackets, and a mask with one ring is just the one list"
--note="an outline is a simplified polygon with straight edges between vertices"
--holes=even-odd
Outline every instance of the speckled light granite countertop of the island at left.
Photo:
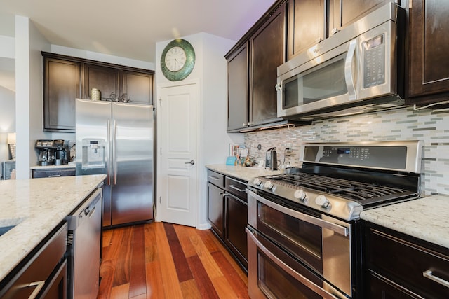
[[0,281],[105,180],[104,174],[0,181]]

